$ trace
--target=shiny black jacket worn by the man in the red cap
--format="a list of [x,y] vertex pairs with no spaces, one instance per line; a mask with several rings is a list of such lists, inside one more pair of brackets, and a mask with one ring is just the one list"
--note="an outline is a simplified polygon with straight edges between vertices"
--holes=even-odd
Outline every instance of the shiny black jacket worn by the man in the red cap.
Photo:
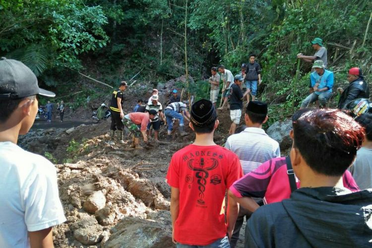
[[363,77],[359,77],[349,83],[348,87],[341,94],[337,108],[344,109],[348,103],[358,98],[370,98],[370,88]]

